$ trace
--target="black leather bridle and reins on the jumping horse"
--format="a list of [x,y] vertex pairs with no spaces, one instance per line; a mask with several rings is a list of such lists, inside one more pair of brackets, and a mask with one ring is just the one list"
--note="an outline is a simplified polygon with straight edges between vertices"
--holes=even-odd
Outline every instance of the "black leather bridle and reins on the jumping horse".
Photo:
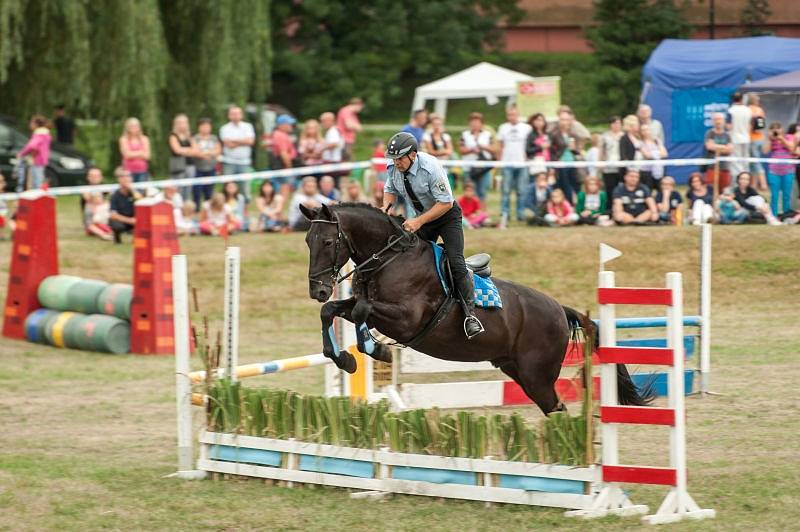
[[[342,264],[338,264],[338,265],[336,264],[336,261],[337,261],[337,259],[339,257],[339,247],[341,246],[341,242],[344,241],[344,243],[347,245],[347,249],[350,252],[350,255],[348,256],[348,260],[349,260],[350,257],[355,257],[356,256],[356,249],[355,249],[355,247],[353,247],[353,243],[350,241],[350,239],[347,237],[347,235],[344,233],[344,231],[342,231],[342,225],[339,222],[339,219],[337,217],[334,216],[333,220],[319,220],[319,219],[311,220],[312,224],[325,223],[325,224],[333,224],[333,225],[335,225],[336,226],[336,241],[333,244],[333,260],[331,261],[331,267],[330,268],[325,268],[325,269],[320,270],[320,271],[315,272],[315,273],[309,273],[308,274],[309,282],[316,283],[316,284],[321,285],[321,286],[330,286],[332,288],[332,287],[336,286],[337,284],[339,284],[340,282],[344,281],[345,279],[348,279],[350,276],[352,276],[355,273],[362,274],[362,275],[363,274],[375,274],[375,273],[378,273],[380,270],[382,270],[383,268],[385,268],[386,266],[391,264],[397,257],[399,257],[400,255],[402,255],[403,253],[405,253],[406,251],[408,251],[409,249],[411,249],[412,247],[414,247],[417,244],[417,240],[418,240],[419,237],[417,237],[416,234],[411,233],[411,232],[406,231],[405,229],[403,229],[400,226],[400,224],[398,224],[391,216],[389,216],[389,221],[392,223],[392,225],[395,227],[395,229],[399,230],[400,234],[396,235],[394,237],[390,237],[389,238],[389,242],[383,248],[381,248],[380,250],[378,250],[375,253],[373,253],[365,261],[361,262],[360,264],[357,264],[347,274],[341,275],[339,273],[339,271],[344,267],[345,264],[347,264],[347,260],[345,260]],[[407,242],[404,245],[400,246],[400,249],[398,249],[398,250],[393,250],[392,249],[403,240],[406,240]],[[388,251],[395,251],[395,254],[392,257],[390,257],[389,260],[384,261],[383,260],[384,259],[384,255]],[[368,266],[372,262],[377,262],[378,264],[373,266],[373,267],[371,267],[371,268],[368,268]],[[324,276],[326,274],[328,275],[328,279],[330,281],[330,285],[326,284],[325,281],[320,280],[320,277]]]

